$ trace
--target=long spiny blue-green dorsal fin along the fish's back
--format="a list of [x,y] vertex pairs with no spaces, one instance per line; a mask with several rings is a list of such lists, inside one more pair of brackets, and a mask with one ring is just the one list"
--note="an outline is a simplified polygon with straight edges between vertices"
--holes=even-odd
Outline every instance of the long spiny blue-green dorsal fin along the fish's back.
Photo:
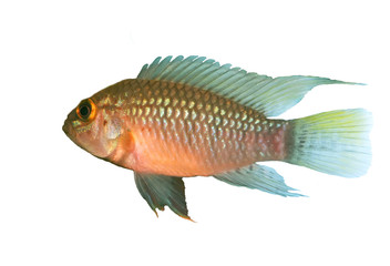
[[248,73],[230,64],[220,65],[205,57],[156,58],[145,64],[137,79],[164,80],[212,91],[253,108],[266,116],[276,116],[297,104],[316,85],[358,84],[319,76],[270,78]]

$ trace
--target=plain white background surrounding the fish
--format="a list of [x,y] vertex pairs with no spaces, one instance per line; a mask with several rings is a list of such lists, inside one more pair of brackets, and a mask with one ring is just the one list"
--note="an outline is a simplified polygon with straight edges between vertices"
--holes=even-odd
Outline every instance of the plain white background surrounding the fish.
[[[390,265],[386,2],[1,1],[0,265]],[[370,171],[267,163],[301,198],[185,180],[197,223],[156,218],[131,171],[61,127],[80,100],[170,54],[367,83],[318,86],[280,117],[370,110]]]

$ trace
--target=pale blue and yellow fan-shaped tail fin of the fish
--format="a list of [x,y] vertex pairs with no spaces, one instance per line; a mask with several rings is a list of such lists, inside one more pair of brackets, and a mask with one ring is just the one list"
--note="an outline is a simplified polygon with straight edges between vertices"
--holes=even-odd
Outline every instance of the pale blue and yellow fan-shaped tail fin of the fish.
[[338,110],[290,123],[286,162],[345,177],[361,176],[368,171],[372,124],[368,111]]

